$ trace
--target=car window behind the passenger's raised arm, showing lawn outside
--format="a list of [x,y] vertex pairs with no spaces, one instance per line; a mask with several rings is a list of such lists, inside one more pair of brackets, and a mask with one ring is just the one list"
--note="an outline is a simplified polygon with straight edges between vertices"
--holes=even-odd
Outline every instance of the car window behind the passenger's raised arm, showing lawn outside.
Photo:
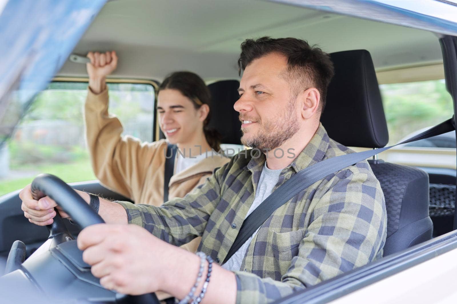
[[[154,87],[109,83],[110,113],[143,141],[154,135]],[[21,189],[40,173],[65,182],[96,179],[85,144],[87,82],[52,82],[39,93],[10,140],[0,148],[0,195]]]

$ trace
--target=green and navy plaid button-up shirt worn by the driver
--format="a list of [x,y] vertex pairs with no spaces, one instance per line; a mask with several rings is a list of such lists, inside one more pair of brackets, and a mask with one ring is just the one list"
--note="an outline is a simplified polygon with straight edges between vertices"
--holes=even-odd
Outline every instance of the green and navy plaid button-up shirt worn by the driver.
[[[119,203],[130,223],[166,242],[179,246],[202,236],[199,250],[222,263],[266,160],[250,151],[234,156],[182,199],[160,207]],[[309,165],[352,152],[329,139],[321,124],[274,189]],[[319,180],[273,212],[253,237],[244,271],[234,272],[237,303],[272,302],[382,257],[386,222],[383,191],[367,161]]]

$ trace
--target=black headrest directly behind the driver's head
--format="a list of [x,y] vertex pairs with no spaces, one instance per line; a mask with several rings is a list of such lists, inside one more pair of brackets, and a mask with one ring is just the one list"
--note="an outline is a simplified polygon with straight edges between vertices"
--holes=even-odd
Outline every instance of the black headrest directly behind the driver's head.
[[389,134],[370,53],[354,50],[330,57],[335,76],[321,117],[329,137],[345,146],[384,147]]

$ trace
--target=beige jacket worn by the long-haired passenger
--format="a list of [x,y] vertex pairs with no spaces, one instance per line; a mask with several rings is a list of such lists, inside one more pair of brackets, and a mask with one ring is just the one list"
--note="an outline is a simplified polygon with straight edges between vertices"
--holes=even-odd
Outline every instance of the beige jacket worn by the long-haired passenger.
[[[92,168],[101,184],[138,204],[160,206],[164,197],[164,171],[167,142],[148,143],[121,136],[119,119],[108,113],[108,90],[94,94],[88,88],[85,103],[86,139]],[[205,182],[213,170],[229,161],[226,157],[207,157],[173,175],[169,199],[183,197]],[[200,238],[187,245],[196,251]],[[189,247],[188,245],[191,245]]]

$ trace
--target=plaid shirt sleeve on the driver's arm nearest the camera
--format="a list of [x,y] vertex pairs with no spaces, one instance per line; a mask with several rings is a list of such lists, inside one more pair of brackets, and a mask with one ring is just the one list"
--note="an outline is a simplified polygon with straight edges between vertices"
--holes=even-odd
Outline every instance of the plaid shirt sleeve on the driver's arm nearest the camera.
[[374,177],[346,174],[315,203],[281,281],[235,271],[238,304],[271,303],[380,257],[387,222],[383,192]]

